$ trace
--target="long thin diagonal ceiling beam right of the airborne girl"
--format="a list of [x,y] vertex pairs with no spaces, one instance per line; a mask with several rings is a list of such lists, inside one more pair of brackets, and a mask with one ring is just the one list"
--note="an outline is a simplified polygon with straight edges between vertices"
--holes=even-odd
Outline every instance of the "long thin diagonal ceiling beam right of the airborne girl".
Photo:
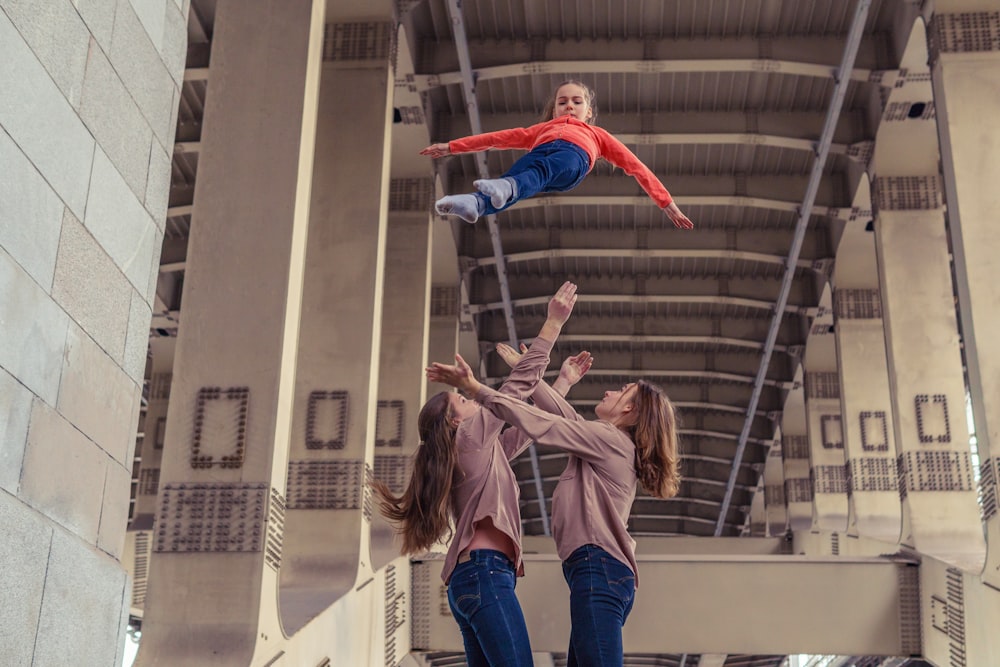
[[809,225],[813,202],[816,199],[820,180],[823,178],[823,169],[830,151],[830,144],[833,141],[833,133],[837,127],[837,119],[840,117],[844,96],[847,94],[847,86],[850,83],[850,77],[847,73],[853,71],[854,59],[858,53],[858,46],[861,44],[861,36],[868,18],[868,8],[870,5],[871,0],[858,0],[858,4],[854,10],[854,18],[851,21],[851,28],[847,34],[847,41],[844,44],[843,58],[841,59],[840,66],[834,73],[836,85],[834,86],[833,96],[830,100],[830,107],[827,109],[826,121],[823,123],[823,132],[816,145],[816,159],[813,161],[812,172],[809,176],[809,185],[806,187],[806,193],[802,199],[799,219],[795,225],[795,236],[788,251],[788,269],[785,271],[785,277],[781,283],[781,292],[775,303],[774,317],[771,319],[771,327],[767,332],[760,367],[757,371],[757,379],[754,382],[753,393],[750,396],[750,403],[747,406],[747,418],[743,422],[740,441],[736,446],[736,454],[733,457],[733,468],[729,473],[729,484],[726,487],[726,495],[723,499],[722,508],[719,511],[719,518],[715,526],[716,536],[722,534],[726,513],[729,511],[729,503],[732,501],[733,485],[736,483],[737,474],[739,474],[740,462],[743,459],[743,452],[746,449],[746,443],[750,436],[750,428],[753,425],[754,415],[757,412],[757,403],[760,401],[761,391],[767,377],[767,369],[771,363],[771,352],[774,350],[774,343],[778,337],[778,329],[781,326],[781,318],[785,314],[785,305],[788,302],[788,295],[792,289],[795,266],[798,262],[799,252],[802,250],[802,241],[805,239],[806,227]]

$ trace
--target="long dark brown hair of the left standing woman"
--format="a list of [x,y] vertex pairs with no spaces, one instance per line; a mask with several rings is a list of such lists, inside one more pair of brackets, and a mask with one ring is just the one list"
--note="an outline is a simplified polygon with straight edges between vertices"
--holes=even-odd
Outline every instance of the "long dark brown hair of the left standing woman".
[[456,473],[454,414],[442,391],[424,403],[417,416],[420,447],[403,494],[396,496],[381,481],[372,482],[379,511],[396,524],[403,554],[421,553],[451,531],[451,489]]

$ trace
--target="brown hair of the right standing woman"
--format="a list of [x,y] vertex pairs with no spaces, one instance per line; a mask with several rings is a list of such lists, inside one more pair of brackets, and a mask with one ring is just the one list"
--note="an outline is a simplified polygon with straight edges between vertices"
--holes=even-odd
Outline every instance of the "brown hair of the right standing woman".
[[635,443],[639,481],[650,495],[672,498],[680,487],[677,415],[663,389],[639,380],[632,396],[635,423],[628,427]]

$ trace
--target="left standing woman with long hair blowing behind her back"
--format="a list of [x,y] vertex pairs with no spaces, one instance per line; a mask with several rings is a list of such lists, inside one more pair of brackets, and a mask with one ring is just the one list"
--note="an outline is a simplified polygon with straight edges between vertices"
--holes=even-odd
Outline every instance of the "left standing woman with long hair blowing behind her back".
[[[532,392],[575,303],[576,285],[566,282],[500,395],[520,401]],[[531,667],[528,630],[514,595],[524,566],[519,489],[510,468],[530,440],[517,429],[502,432],[502,419],[455,392],[432,397],[417,421],[421,446],[409,484],[396,496],[376,482],[380,510],[397,526],[403,553],[451,538],[441,578],[470,667]]]

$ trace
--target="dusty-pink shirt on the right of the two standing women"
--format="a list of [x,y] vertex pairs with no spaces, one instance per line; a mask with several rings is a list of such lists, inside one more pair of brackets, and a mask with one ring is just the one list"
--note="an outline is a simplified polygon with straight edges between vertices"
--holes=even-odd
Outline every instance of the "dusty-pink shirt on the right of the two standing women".
[[566,560],[577,548],[595,544],[632,568],[638,587],[635,540],[628,534],[638,477],[635,444],[628,435],[606,421],[583,419],[545,382],[538,383],[532,396],[537,407],[489,387],[475,398],[536,443],[569,454],[552,496],[552,535],[559,557]]

